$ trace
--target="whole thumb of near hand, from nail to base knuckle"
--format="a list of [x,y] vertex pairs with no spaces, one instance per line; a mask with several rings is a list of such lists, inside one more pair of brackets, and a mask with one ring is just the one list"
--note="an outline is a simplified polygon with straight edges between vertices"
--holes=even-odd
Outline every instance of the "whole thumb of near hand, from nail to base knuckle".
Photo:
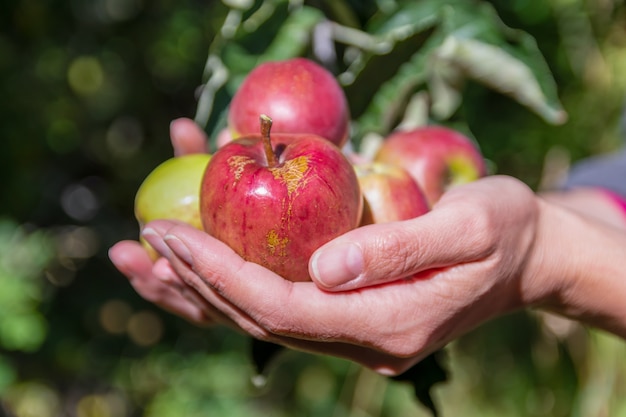
[[420,217],[329,242],[313,254],[309,271],[324,289],[349,290],[482,260],[515,237],[510,230],[532,222],[525,217],[534,212],[526,209],[530,201],[528,187],[505,177],[459,186]]

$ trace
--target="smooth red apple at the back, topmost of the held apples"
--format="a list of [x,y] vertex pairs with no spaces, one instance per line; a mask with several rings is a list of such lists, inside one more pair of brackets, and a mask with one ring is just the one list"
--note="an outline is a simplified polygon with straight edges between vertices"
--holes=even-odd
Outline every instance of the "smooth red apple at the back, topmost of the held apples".
[[342,147],[350,111],[334,75],[306,58],[265,62],[254,68],[233,96],[228,125],[233,138],[256,135],[259,114],[272,117],[274,133],[310,133]]

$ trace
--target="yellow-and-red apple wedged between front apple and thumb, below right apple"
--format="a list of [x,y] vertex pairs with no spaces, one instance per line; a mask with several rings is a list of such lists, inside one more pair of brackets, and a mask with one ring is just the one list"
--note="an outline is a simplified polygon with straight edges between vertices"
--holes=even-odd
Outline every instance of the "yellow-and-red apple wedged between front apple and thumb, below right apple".
[[408,220],[428,212],[424,193],[404,168],[366,162],[354,169],[364,198],[361,226]]

